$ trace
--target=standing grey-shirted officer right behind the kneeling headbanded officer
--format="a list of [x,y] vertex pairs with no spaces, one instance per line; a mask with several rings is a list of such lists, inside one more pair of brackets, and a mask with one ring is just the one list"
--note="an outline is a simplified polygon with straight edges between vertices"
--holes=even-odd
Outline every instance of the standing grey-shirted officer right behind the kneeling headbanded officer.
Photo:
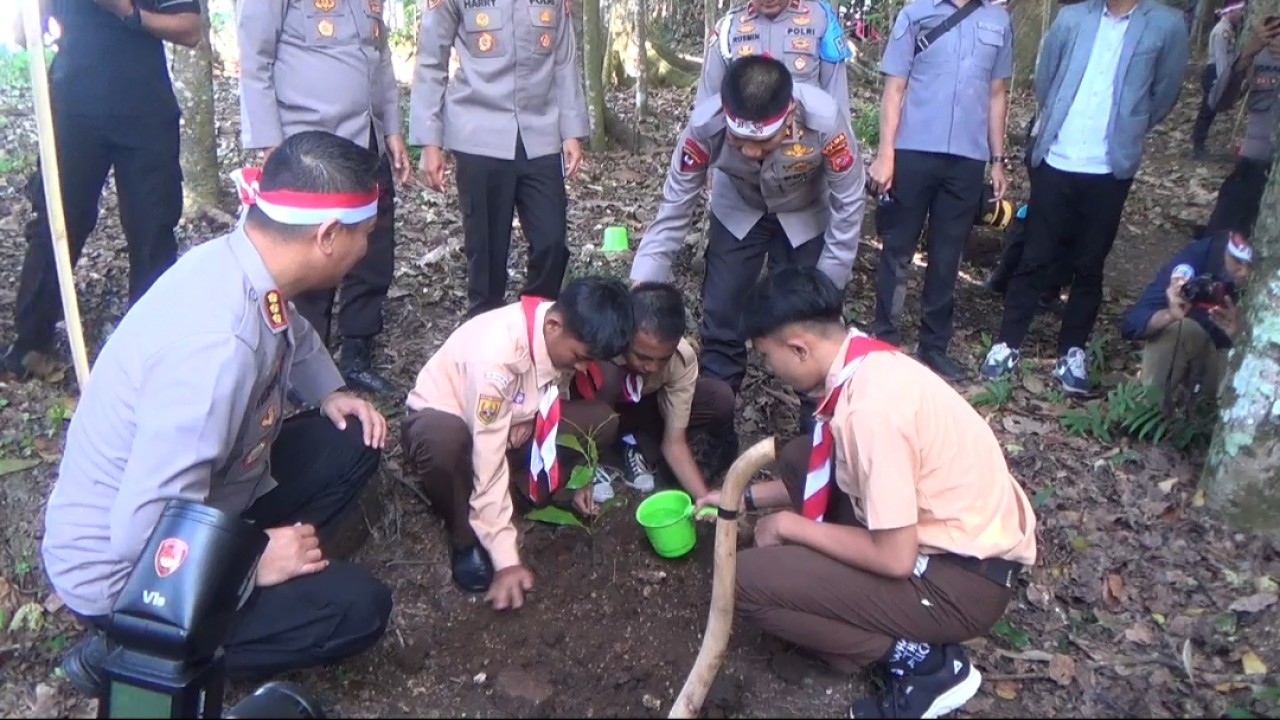
[[[383,329],[383,301],[396,264],[396,179],[412,172],[401,129],[383,0],[239,0],[241,137],[268,152],[285,137],[323,129],[381,154],[378,225],[369,252],[343,278],[338,310],[339,361],[352,386],[399,391],[372,370],[372,338]],[[329,342],[334,290],[294,300]]]

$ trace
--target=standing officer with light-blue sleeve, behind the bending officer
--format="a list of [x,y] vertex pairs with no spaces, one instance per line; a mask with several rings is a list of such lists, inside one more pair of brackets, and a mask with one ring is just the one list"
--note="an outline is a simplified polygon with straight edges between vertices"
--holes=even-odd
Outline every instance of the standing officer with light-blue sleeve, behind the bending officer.
[[849,117],[849,44],[826,1],[751,0],[726,13],[707,44],[695,102],[719,94],[724,69],[746,55],[778,58],[796,82],[826,90]]

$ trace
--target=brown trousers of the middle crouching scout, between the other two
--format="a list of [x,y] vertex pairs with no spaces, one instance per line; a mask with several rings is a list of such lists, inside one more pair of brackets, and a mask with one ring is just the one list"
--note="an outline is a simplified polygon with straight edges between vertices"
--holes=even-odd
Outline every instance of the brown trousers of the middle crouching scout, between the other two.
[[[618,413],[618,436],[634,436],[640,454],[650,466],[662,462],[662,436],[666,420],[658,407],[658,393],[653,392],[640,398],[640,402],[623,401],[626,374],[613,363],[600,364],[602,383],[595,391],[595,400],[607,402]],[[573,388],[577,392],[577,388]],[[700,432],[713,432],[733,427],[733,404],[737,398],[728,383],[701,375],[694,387],[694,398],[689,410],[689,436]],[[708,478],[709,480],[710,478]]]

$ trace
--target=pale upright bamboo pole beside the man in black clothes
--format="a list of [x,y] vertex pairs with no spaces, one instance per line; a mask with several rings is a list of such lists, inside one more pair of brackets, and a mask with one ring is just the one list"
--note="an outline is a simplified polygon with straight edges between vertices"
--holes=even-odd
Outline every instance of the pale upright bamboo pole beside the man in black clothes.
[[83,395],[88,383],[88,352],[84,348],[84,329],[81,325],[79,302],[76,300],[76,274],[67,246],[67,218],[63,214],[63,190],[58,172],[58,141],[54,138],[54,114],[49,99],[49,69],[45,68],[45,28],[40,15],[40,0],[26,0],[27,51],[31,55],[31,90],[36,104],[36,126],[40,131],[40,177],[45,183],[45,206],[49,229],[54,242],[54,261],[58,268],[58,288],[63,296],[63,316],[76,364],[76,382]]

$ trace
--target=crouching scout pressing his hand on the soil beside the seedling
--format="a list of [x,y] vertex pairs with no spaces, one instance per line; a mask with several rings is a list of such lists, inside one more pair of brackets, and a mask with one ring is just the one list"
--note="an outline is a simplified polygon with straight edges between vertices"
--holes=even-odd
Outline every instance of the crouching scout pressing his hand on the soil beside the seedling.
[[[494,609],[520,607],[534,584],[513,496],[539,506],[563,498],[572,457],[557,433],[590,433],[600,447],[618,437],[608,405],[568,400],[562,382],[622,354],[634,333],[626,286],[581,278],[556,301],[526,296],[467,320],[417,374],[401,425],[404,466],[444,519],[453,580],[489,591]],[[573,506],[594,511],[590,484]]]

